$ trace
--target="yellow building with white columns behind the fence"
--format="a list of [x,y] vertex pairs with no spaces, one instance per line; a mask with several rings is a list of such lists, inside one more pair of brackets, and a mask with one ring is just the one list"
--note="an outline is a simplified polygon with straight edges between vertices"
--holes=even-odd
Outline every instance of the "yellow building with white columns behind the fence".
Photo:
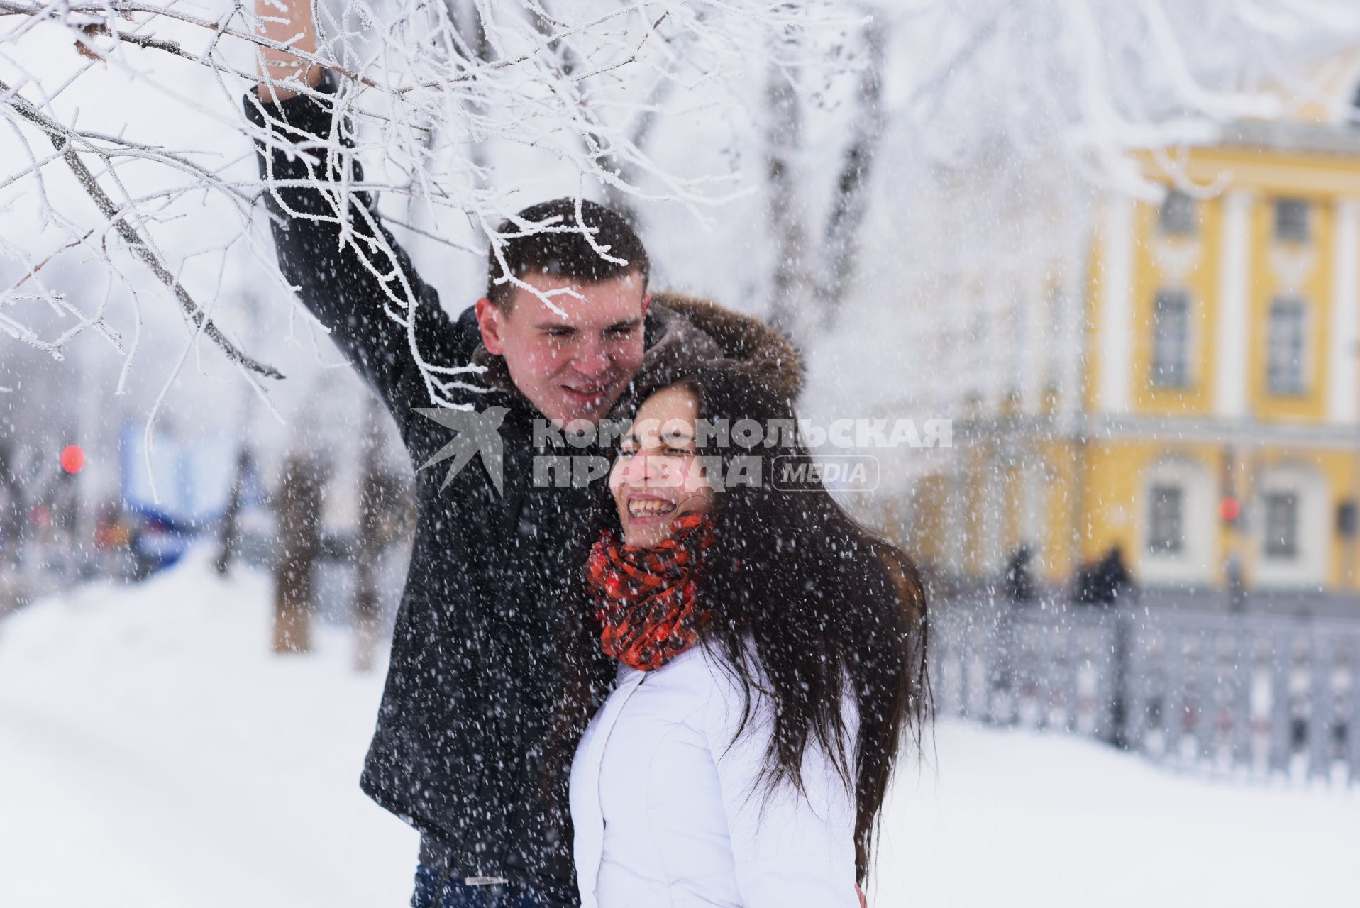
[[1224,599],[1235,564],[1253,601],[1352,608],[1360,129],[1239,124],[1178,166],[1145,173],[1189,192],[1102,201],[1085,273],[1006,338],[1051,349],[955,419],[904,541],[963,578],[1028,545],[1062,584],[1118,545],[1146,590]]

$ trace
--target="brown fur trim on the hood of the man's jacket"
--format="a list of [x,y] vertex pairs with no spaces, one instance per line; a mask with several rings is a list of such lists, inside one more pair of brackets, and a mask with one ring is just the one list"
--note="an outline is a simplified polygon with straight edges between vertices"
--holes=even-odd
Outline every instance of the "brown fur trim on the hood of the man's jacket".
[[[759,318],[700,296],[670,291],[653,294],[647,341],[642,368],[620,398],[620,406],[683,378],[698,366],[740,370],[789,398],[797,398],[802,390],[802,357],[783,334]],[[481,375],[486,385],[518,394],[505,359],[492,356],[479,344],[472,362],[487,370]]]

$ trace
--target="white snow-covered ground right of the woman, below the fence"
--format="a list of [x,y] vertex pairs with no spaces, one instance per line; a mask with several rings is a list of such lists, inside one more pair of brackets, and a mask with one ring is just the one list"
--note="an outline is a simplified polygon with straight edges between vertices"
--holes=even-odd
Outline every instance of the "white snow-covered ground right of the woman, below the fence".
[[899,778],[880,908],[1360,904],[1360,790],[1179,776],[1077,737],[942,723]]

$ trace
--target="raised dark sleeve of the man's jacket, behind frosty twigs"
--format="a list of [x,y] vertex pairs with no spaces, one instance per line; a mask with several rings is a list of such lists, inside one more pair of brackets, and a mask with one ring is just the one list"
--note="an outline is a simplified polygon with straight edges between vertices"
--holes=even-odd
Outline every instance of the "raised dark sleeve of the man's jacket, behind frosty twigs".
[[[332,95],[335,90],[335,76],[326,71],[318,91]],[[431,405],[411,351],[408,306],[413,303],[416,349],[437,368],[471,360],[480,340],[476,324],[454,322],[443,311],[438,292],[420,280],[382,224],[373,197],[350,189],[348,184],[363,179],[363,169],[352,155],[348,130],[333,122],[332,105],[310,95],[264,103],[253,90],[243,105],[257,128],[265,205],[277,216],[271,217],[271,228],[279,269],[405,427],[408,408]]]

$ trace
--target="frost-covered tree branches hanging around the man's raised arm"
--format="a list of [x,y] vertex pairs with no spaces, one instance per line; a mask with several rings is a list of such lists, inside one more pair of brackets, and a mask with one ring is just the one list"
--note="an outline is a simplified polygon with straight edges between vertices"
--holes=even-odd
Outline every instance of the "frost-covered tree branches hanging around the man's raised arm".
[[[275,15],[282,10],[271,0],[258,14],[242,3],[0,0],[0,113],[10,133],[0,190],[7,216],[33,226],[3,249],[0,329],[60,356],[71,337],[95,328],[131,363],[139,333],[117,325],[140,325],[148,307],[173,298],[190,345],[205,340],[248,372],[280,377],[230,330],[242,270],[272,273],[276,294],[286,291],[261,242],[257,203],[287,184],[261,184],[246,139],[280,140],[250,124],[239,101],[260,72],[269,73],[265,101],[310,92],[333,106],[330,132],[299,139],[290,154],[310,154],[332,173],[348,173],[341,163],[351,158],[366,162],[371,177],[326,184],[330,216],[340,242],[386,279],[377,269],[392,250],[370,209],[354,204],[360,194],[381,194],[398,226],[413,203],[420,223],[407,226],[458,254],[480,256],[488,242],[498,249],[503,219],[532,201],[515,169],[554,169],[559,184],[623,208],[665,201],[703,219],[744,190],[737,174],[658,164],[646,151],[651,124],[734,109],[733,86],[771,53],[770,33],[782,35],[771,65],[804,65],[847,22],[830,3],[345,0],[314,4],[317,37],[299,41]],[[316,67],[333,72],[339,90],[321,95],[299,80]],[[212,223],[199,230],[204,207]],[[92,264],[117,292],[90,306],[50,290],[45,275],[65,261]],[[401,280],[382,285],[388,317],[412,325]],[[131,311],[116,311],[114,299]],[[39,302],[75,325],[45,336],[31,315]],[[415,352],[431,400],[443,400],[465,364]]]

